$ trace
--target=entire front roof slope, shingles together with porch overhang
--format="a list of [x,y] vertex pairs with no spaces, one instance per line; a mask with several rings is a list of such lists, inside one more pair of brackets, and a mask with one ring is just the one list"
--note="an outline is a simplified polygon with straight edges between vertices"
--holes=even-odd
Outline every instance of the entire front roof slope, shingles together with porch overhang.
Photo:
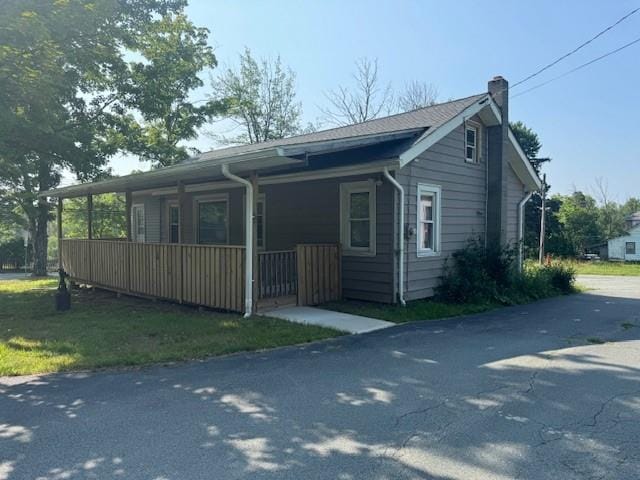
[[438,128],[486,96],[487,94],[483,93],[355,125],[252,145],[212,150],[196,155],[178,165],[99,182],[57,188],[43,192],[40,196],[68,198],[162,188],[173,186],[178,181],[185,183],[211,181],[223,178],[221,168],[225,164],[229,165],[232,173],[238,175],[252,171],[282,170],[287,167],[300,168],[307,164],[307,156],[411,137],[417,139],[426,131]]

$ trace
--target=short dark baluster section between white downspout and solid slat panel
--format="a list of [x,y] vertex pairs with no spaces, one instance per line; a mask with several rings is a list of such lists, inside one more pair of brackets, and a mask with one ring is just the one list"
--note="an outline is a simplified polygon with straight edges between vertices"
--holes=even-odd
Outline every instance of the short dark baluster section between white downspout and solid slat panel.
[[295,250],[258,253],[258,299],[295,295],[297,273]]

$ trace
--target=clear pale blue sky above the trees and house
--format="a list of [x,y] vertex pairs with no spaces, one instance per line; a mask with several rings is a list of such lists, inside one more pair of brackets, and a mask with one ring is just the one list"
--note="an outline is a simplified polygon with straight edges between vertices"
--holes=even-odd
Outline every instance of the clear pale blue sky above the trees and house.
[[[248,46],[280,55],[297,74],[305,121],[320,116],[323,92],[349,81],[354,60],[378,58],[397,88],[435,84],[443,100],[486,90],[500,74],[515,83],[573,49],[640,0],[616,1],[207,1],[191,0],[190,18],[210,29],[220,67]],[[527,82],[534,86],[640,36],[640,12],[593,44]],[[215,71],[213,72],[215,75]],[[511,102],[543,142],[553,191],[591,192],[604,177],[614,199],[640,196],[640,44]],[[198,92],[202,96],[204,92]],[[305,122],[306,123],[306,122]],[[202,137],[195,145],[213,146]],[[114,162],[117,173],[140,164]]]

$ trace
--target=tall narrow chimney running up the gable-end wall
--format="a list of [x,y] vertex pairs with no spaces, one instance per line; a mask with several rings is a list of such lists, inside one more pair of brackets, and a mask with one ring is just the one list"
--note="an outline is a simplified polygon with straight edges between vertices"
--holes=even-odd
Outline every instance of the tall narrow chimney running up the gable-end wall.
[[500,76],[494,77],[489,81],[489,94],[500,109],[502,124],[487,128],[487,245],[504,245],[507,238],[509,82]]

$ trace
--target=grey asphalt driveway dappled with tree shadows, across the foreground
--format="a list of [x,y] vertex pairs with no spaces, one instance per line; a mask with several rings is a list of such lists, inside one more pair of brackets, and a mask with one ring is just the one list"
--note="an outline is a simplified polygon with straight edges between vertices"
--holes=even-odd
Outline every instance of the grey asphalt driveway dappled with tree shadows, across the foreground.
[[305,347],[5,378],[0,479],[638,478],[629,281]]

